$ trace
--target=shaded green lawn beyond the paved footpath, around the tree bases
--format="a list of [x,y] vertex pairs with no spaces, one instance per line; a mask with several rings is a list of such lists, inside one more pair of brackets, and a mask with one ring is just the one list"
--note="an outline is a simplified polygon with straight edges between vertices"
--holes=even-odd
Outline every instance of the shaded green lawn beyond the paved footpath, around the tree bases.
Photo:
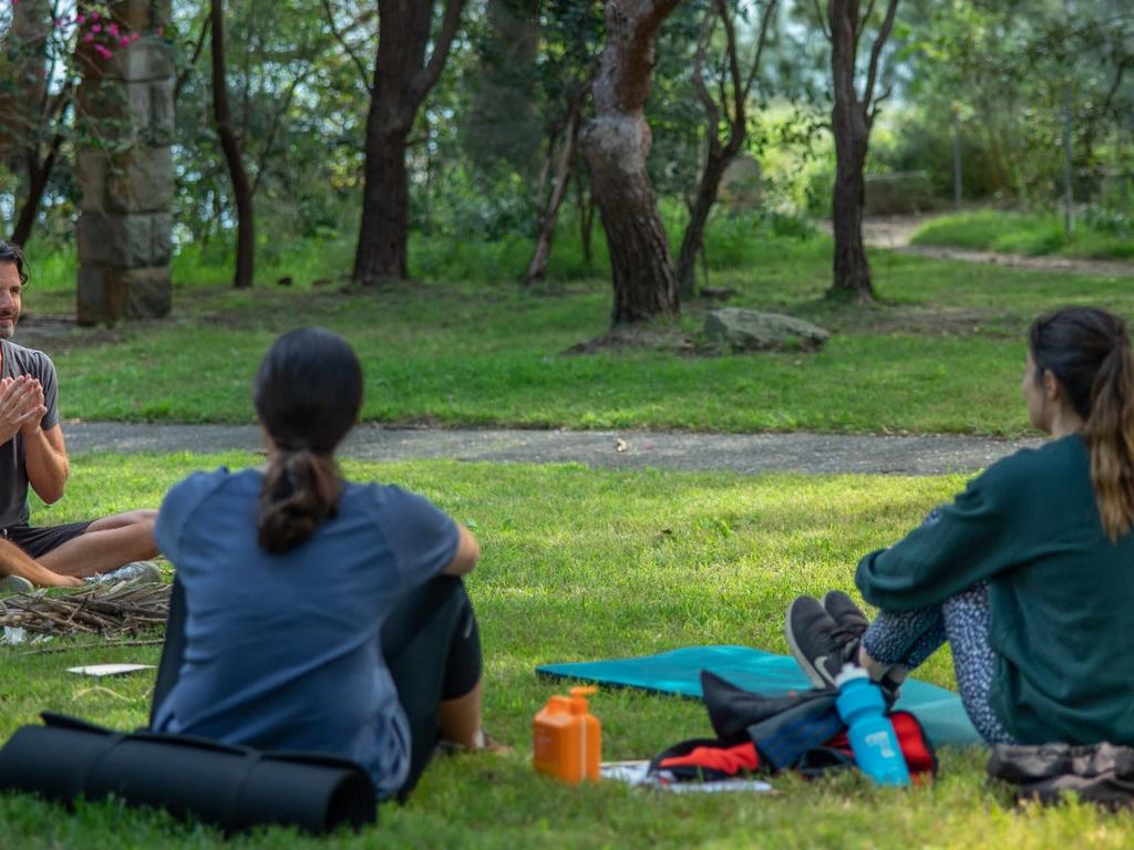
[[[739,249],[737,249],[739,252]],[[256,365],[281,331],[310,324],[345,334],[366,369],[363,417],[392,424],[704,431],[1026,432],[1019,400],[1024,331],[1074,301],[1134,316],[1127,278],[1040,273],[874,252],[882,304],[835,306],[830,243],[752,236],[720,247],[736,306],[813,320],[835,332],[818,354],[688,356],[604,351],[564,356],[607,330],[606,280],[522,292],[509,279],[405,284],[344,295],[234,291],[181,284],[174,315],[115,329],[34,335],[34,316],[73,309],[65,277],[27,290],[33,318],[17,341],[60,371],[67,417],[248,422]],[[711,255],[712,256],[712,255]],[[34,270],[33,270],[34,271]],[[39,286],[39,288],[37,288]],[[696,335],[705,305],[686,305]]]

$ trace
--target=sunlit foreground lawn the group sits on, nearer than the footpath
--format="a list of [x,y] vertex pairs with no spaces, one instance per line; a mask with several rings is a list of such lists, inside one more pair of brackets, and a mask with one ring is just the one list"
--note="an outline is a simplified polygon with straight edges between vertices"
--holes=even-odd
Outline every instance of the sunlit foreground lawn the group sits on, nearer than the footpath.
[[[37,520],[156,504],[194,468],[253,456],[86,456],[71,490]],[[355,478],[393,482],[437,501],[480,537],[468,580],[481,620],[486,723],[513,755],[441,759],[409,805],[384,806],[359,835],[314,841],[274,830],[236,847],[988,847],[1129,845],[1134,817],[1066,804],[1017,809],[988,783],[981,750],[941,753],[932,788],[875,790],[844,775],[775,780],[775,796],[677,797],[618,785],[568,788],[530,768],[531,720],[559,686],[539,681],[548,661],[745,643],[785,652],[781,618],[799,593],[850,588],[854,564],[957,491],[959,477],[741,476],[595,471],[581,466],[457,462],[347,464]],[[56,646],[61,644],[57,643]],[[0,736],[51,708],[129,729],[145,721],[151,675],[95,682],[77,663],[150,662],[155,648],[75,640],[66,652],[0,648]],[[35,647],[32,647],[34,649]],[[946,653],[922,671],[954,685]],[[604,757],[649,757],[710,731],[689,700],[603,690]],[[0,797],[0,847],[220,847],[202,826],[113,802],[75,814]]]

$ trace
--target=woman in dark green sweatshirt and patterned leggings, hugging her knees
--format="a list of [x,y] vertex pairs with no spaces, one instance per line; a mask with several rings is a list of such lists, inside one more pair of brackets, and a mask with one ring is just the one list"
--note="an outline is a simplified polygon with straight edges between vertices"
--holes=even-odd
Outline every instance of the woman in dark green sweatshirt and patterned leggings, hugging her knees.
[[801,596],[786,636],[829,686],[844,663],[891,695],[946,641],[990,742],[1134,745],[1134,355],[1126,324],[1065,307],[1029,332],[1023,392],[1051,434],[989,467],[858,563],[873,622]]

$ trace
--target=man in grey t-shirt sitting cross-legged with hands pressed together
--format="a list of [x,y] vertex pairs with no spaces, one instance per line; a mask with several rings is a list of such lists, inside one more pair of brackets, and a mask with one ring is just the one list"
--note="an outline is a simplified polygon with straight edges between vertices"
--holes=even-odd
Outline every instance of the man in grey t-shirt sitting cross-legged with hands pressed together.
[[[26,281],[23,253],[0,241],[0,536],[60,577],[104,573],[153,558],[156,511],[61,526],[28,525],[28,485],[51,504],[64,495],[70,467],[59,426],[56,367],[42,351],[10,341]],[[10,554],[8,547],[0,549],[0,575],[60,584],[26,562],[9,564]],[[146,571],[152,570],[151,566]]]

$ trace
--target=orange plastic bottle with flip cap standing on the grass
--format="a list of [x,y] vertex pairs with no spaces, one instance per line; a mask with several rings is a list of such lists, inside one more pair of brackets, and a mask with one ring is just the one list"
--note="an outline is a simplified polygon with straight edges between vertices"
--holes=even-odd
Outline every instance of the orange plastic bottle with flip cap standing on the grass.
[[590,713],[586,697],[595,688],[572,688],[556,695],[532,723],[532,766],[564,782],[599,781],[602,724]]

